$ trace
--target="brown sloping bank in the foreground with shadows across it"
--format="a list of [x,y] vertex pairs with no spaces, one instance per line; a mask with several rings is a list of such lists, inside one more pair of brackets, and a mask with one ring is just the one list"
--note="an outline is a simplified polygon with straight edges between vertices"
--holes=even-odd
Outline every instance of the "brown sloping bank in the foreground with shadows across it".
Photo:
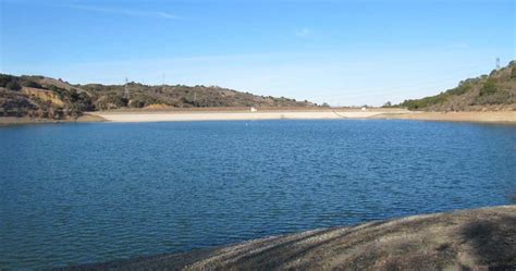
[[414,215],[64,270],[514,270],[516,206]]

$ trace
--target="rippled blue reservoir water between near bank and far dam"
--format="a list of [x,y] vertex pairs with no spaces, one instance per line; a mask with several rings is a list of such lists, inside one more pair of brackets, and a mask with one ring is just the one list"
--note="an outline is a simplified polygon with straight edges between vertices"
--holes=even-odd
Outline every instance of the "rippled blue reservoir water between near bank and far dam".
[[0,128],[0,269],[511,204],[516,126],[416,121]]

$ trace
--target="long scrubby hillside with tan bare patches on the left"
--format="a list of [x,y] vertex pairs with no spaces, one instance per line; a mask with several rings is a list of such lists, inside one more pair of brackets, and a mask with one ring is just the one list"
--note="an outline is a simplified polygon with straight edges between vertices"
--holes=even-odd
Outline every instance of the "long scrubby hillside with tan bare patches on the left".
[[256,96],[217,86],[72,85],[42,76],[0,74],[0,116],[73,119],[121,108],[317,107],[309,101]]

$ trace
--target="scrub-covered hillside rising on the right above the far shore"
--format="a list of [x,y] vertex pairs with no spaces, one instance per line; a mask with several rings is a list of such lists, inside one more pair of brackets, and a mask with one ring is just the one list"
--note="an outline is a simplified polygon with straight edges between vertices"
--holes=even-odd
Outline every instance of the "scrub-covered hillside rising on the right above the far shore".
[[405,100],[400,107],[427,111],[516,110],[516,62],[490,75],[463,81],[439,95]]

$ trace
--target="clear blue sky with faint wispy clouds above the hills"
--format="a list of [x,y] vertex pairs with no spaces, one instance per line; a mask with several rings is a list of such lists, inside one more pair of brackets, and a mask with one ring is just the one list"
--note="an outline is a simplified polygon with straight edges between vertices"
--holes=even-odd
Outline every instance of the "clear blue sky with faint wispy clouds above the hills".
[[380,106],[516,59],[515,0],[0,3],[0,72],[81,84],[164,78]]

